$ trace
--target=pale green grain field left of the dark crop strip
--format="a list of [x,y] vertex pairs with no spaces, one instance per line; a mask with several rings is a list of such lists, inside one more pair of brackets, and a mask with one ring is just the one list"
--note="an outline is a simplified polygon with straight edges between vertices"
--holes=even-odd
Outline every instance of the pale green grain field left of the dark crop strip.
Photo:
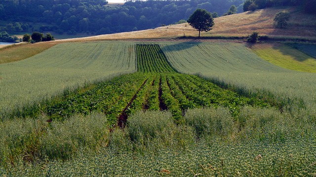
[[0,65],[0,109],[38,102],[96,80],[136,71],[129,42],[64,43]]

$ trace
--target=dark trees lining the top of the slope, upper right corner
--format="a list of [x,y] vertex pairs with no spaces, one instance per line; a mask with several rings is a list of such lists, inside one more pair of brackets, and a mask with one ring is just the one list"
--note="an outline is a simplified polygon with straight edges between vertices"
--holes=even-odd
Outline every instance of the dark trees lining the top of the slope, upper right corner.
[[303,6],[305,12],[316,14],[316,0],[245,0],[243,11],[262,9],[273,6]]

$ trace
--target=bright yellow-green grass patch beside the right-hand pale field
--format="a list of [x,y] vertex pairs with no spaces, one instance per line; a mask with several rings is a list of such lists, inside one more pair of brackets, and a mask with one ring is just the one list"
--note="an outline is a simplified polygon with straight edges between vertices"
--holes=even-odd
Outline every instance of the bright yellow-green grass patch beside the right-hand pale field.
[[316,72],[316,59],[281,43],[256,44],[251,49],[262,59],[282,68]]

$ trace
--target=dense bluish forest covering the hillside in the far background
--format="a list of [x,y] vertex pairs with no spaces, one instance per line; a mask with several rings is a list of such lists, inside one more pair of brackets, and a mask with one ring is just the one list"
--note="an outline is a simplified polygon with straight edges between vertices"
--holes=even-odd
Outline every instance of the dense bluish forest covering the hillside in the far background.
[[[301,5],[315,13],[316,0],[246,0],[256,8]],[[232,5],[242,12],[244,0],[147,0],[109,5],[105,0],[0,0],[0,31],[58,34],[111,34],[156,28],[184,22],[202,8],[219,16]],[[34,26],[33,23],[42,23]],[[233,23],[233,22],[232,22]]]

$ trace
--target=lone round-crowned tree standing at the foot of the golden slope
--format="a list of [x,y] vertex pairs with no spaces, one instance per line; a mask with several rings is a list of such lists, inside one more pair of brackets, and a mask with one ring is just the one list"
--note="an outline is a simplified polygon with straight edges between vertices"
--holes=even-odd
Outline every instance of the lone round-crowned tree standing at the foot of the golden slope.
[[188,23],[198,31],[198,37],[200,37],[200,32],[208,32],[212,30],[214,25],[212,14],[205,9],[197,9],[189,17]]

